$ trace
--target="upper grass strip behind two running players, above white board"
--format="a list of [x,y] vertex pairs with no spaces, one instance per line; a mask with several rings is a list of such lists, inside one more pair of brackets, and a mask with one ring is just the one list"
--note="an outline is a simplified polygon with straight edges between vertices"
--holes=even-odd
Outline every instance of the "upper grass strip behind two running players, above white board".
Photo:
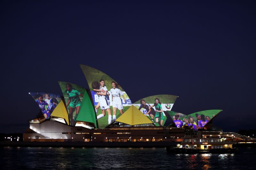
[[[160,94],[142,98],[146,101],[146,103],[155,103],[155,99],[158,98],[161,103],[174,103],[177,96],[168,95],[168,94]],[[134,104],[140,104],[140,100],[134,102]]]

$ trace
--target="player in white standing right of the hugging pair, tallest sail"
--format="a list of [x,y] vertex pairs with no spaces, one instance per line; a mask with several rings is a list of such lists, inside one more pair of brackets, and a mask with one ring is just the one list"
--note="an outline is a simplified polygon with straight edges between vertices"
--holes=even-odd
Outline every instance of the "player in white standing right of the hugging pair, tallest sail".
[[120,114],[123,115],[123,104],[122,104],[122,101],[121,101],[121,96],[123,97],[124,99],[124,102],[126,102],[125,98],[124,98],[124,95],[123,95],[123,92],[118,88],[118,85],[116,84],[115,81],[112,81],[111,82],[112,84],[112,89],[110,89],[110,92],[112,94],[112,105],[113,105],[113,121],[116,120],[116,110],[118,108],[118,110],[120,111]]

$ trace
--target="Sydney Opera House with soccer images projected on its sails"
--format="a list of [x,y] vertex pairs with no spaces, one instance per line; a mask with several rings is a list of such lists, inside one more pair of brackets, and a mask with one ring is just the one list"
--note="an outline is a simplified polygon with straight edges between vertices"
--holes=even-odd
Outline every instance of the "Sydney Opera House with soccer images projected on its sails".
[[[172,111],[178,96],[141,96],[132,101],[105,73],[80,65],[90,89],[59,82],[62,94],[30,92],[41,117],[29,122],[24,141],[178,142],[183,147],[223,148],[254,139],[212,124],[222,110],[189,115]],[[132,85],[130,86],[132,87]]]

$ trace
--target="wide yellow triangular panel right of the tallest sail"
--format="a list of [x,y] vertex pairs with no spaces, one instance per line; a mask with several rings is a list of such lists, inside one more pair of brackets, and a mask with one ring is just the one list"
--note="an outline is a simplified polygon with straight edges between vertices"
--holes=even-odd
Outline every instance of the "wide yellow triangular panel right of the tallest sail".
[[133,105],[129,107],[123,115],[117,118],[116,122],[122,122],[129,125],[152,123],[147,116],[141,113],[140,110]]

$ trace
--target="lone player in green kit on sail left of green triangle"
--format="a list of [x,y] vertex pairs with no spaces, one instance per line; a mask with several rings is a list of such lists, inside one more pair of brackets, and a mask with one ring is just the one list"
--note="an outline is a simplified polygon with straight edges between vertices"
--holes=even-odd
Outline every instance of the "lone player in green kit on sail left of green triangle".
[[[67,87],[67,94],[68,94],[67,107],[69,105],[70,123],[71,125],[74,125],[74,120],[76,120],[76,116],[78,115],[78,112],[82,103],[79,96],[84,97],[84,95],[78,92],[76,89],[73,89],[70,83],[67,83],[66,87]],[[73,119],[73,112],[75,109],[76,109],[76,115]]]

